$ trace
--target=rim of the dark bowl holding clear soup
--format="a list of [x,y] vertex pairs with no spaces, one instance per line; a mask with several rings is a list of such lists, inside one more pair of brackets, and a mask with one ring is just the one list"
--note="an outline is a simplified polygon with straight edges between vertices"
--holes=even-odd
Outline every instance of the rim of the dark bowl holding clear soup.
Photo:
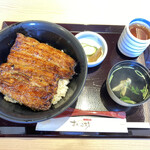
[[109,96],[112,98],[112,100],[114,100],[116,103],[118,103],[118,104],[120,104],[120,105],[122,105],[122,106],[126,106],[126,107],[139,106],[139,105],[145,103],[146,101],[150,100],[150,97],[149,97],[148,99],[146,99],[146,100],[144,100],[144,101],[141,101],[141,102],[139,102],[139,103],[136,103],[136,104],[129,104],[129,103],[126,103],[126,102],[120,100],[120,99],[114,94],[114,92],[112,92],[111,87],[110,87],[110,84],[109,84],[110,75],[112,74],[113,69],[114,69],[116,66],[118,66],[118,65],[120,65],[120,64],[122,64],[122,63],[134,63],[134,64],[136,64],[136,65],[142,67],[142,69],[147,73],[147,75],[148,75],[149,78],[150,78],[150,70],[149,70],[147,67],[145,67],[144,65],[142,65],[141,63],[139,63],[139,62],[136,62],[136,61],[133,61],[133,60],[124,60],[124,61],[120,61],[120,62],[116,63],[116,64],[110,69],[110,71],[109,71],[109,73],[108,73],[108,76],[107,76],[107,79],[106,79],[107,92],[109,93]]

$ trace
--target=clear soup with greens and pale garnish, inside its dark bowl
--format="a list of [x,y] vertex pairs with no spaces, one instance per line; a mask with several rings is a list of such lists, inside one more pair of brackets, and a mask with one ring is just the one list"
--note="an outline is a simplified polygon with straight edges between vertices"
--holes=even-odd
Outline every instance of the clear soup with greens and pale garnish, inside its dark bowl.
[[149,79],[142,73],[142,68],[136,66],[121,66],[116,68],[110,76],[110,86],[114,94],[127,103],[138,103],[146,100],[149,86]]

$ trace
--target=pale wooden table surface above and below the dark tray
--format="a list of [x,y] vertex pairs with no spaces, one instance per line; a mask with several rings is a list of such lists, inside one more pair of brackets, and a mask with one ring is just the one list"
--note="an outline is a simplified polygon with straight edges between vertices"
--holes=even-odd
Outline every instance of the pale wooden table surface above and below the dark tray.
[[[3,21],[46,20],[55,23],[125,25],[150,19],[149,0],[0,0]],[[104,149],[147,150],[149,139],[0,138],[0,150]]]

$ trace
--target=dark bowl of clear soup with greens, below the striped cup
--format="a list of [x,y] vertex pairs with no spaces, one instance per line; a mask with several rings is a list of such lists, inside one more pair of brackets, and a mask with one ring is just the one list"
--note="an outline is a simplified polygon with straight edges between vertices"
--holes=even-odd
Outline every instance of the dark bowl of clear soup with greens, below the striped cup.
[[109,71],[107,91],[117,104],[133,107],[150,99],[150,70],[135,61],[121,61]]

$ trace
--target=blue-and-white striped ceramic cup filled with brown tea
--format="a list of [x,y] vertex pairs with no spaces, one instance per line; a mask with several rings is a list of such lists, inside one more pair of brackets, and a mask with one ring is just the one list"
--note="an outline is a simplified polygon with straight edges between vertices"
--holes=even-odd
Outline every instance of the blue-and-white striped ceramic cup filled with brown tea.
[[118,40],[118,48],[128,57],[138,57],[150,45],[150,22],[136,18],[125,26]]

